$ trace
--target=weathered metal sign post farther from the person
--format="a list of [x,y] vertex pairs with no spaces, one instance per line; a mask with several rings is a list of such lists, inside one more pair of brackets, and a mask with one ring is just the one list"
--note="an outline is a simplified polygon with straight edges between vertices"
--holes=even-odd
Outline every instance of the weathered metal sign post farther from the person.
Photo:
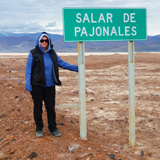
[[129,146],[135,146],[135,79],[134,41],[128,42],[128,84],[129,84]]

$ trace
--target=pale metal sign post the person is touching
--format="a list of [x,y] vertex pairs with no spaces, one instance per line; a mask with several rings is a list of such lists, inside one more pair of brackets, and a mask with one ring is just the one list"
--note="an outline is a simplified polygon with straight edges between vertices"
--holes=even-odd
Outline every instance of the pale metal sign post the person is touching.
[[82,139],[86,139],[86,136],[87,136],[87,121],[86,121],[84,42],[78,42],[78,74],[79,74],[80,137]]

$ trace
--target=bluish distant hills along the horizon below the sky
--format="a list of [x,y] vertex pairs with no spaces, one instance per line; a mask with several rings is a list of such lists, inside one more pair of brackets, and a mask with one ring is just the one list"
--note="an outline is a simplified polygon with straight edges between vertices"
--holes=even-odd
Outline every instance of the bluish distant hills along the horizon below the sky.
[[[39,33],[0,32],[0,52],[29,52],[34,48]],[[77,52],[76,42],[64,42],[63,35],[50,34],[57,52]],[[127,41],[85,42],[86,52],[127,52]],[[136,52],[160,52],[160,35],[148,36],[146,41],[135,41]]]

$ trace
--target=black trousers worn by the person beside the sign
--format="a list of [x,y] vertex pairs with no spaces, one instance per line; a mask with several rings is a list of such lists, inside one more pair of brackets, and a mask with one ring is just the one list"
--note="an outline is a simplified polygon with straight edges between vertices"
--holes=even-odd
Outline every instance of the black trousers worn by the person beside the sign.
[[43,129],[43,100],[47,110],[48,129],[50,132],[56,130],[55,86],[41,87],[33,85],[31,95],[34,102],[34,120],[36,123],[36,131],[42,131]]

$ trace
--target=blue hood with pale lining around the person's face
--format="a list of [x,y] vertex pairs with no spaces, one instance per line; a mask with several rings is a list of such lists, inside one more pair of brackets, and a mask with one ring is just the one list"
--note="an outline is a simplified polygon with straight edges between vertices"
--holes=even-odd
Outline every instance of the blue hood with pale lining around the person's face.
[[44,48],[40,46],[40,40],[41,40],[44,36],[48,37],[48,40],[49,40],[48,49],[45,51],[45,52],[48,52],[48,51],[50,51],[50,50],[53,48],[52,41],[51,41],[51,38],[50,38],[50,36],[49,36],[48,33],[42,32],[42,33],[38,36],[37,42],[36,42],[36,46],[38,46],[41,51],[44,51]]

